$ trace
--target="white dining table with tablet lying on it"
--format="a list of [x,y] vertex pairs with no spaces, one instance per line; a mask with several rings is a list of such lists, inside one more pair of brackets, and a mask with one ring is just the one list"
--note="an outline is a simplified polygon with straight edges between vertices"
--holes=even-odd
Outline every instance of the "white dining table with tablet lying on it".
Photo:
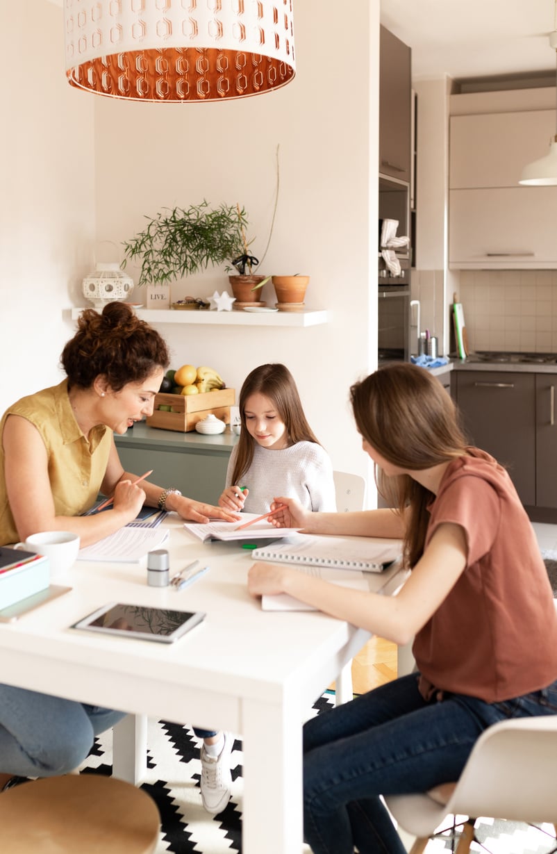
[[[302,850],[302,724],[315,700],[369,638],[363,629],[318,611],[262,611],[247,592],[249,551],[202,543],[171,514],[171,574],[194,559],[209,565],[180,592],[147,584],[146,560],[78,560],[56,585],[72,589],[13,623],[0,623],[0,681],[131,713],[114,745],[134,752],[134,723],[152,717],[225,729],[242,739],[244,854]],[[390,594],[397,566],[368,573]],[[175,643],[99,635],[70,628],[109,602],[205,611]],[[122,727],[119,724],[115,732]],[[136,747],[136,745],[135,745]],[[121,773],[129,776],[130,771]]]

